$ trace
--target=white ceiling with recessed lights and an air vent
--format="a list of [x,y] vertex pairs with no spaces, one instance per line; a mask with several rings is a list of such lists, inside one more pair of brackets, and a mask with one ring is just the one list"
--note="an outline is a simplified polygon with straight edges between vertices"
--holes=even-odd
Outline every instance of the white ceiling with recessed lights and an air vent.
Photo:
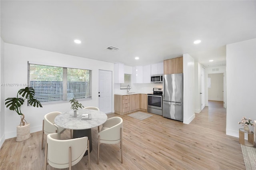
[[[184,53],[205,67],[220,66],[226,44],[256,38],[256,1],[1,0],[1,38],[130,66]],[[120,49],[107,50],[110,45]]]

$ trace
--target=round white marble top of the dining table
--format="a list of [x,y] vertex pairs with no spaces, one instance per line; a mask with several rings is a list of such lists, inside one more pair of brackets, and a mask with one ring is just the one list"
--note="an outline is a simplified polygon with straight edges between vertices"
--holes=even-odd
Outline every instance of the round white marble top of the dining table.
[[[91,114],[92,119],[82,120],[82,114]],[[107,119],[108,117],[104,112],[91,109],[81,109],[77,111],[77,117],[74,117],[74,111],[68,111],[56,116],[54,122],[62,128],[82,130],[98,127],[105,123]]]

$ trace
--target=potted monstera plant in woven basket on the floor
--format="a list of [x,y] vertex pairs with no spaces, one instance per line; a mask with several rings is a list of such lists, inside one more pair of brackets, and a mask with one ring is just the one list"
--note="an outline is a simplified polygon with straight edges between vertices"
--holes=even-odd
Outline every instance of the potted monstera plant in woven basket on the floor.
[[[16,111],[20,115],[20,125],[17,126],[17,138],[16,141],[23,141],[30,138],[30,123],[24,119],[24,114],[21,112],[20,108],[24,104],[24,101],[27,99],[28,104],[33,107],[42,107],[40,101],[34,98],[35,91],[33,87],[25,87],[20,89],[17,93],[17,97],[9,97],[5,99],[6,107],[12,111]],[[21,97],[19,97],[21,96]]]

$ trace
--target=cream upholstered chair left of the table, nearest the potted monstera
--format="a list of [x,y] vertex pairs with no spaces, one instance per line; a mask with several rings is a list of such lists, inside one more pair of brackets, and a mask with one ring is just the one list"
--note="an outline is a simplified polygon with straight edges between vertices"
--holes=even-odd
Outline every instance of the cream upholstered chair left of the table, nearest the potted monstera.
[[44,134],[50,133],[58,133],[59,135],[64,132],[66,129],[59,127],[54,123],[54,119],[58,116],[61,112],[50,112],[44,115],[43,126],[42,126],[42,149],[43,149],[43,142],[44,142]]

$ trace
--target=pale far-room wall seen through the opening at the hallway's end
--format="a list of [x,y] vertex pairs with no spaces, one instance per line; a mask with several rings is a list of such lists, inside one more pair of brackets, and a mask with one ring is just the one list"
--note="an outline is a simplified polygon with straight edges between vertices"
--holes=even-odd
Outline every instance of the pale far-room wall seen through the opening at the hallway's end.
[[206,90],[208,89],[208,100],[223,101],[223,73],[208,74],[208,77],[211,78],[211,87],[206,87]]

